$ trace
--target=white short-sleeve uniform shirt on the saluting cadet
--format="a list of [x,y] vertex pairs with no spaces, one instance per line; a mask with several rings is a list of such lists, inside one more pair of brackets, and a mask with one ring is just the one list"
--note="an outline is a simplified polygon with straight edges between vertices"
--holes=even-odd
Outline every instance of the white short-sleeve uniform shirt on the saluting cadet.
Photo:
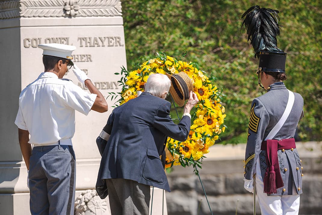
[[30,133],[31,144],[49,144],[72,138],[75,133],[75,110],[90,112],[96,94],[89,94],[72,81],[44,72],[19,96],[15,120],[18,128]]

